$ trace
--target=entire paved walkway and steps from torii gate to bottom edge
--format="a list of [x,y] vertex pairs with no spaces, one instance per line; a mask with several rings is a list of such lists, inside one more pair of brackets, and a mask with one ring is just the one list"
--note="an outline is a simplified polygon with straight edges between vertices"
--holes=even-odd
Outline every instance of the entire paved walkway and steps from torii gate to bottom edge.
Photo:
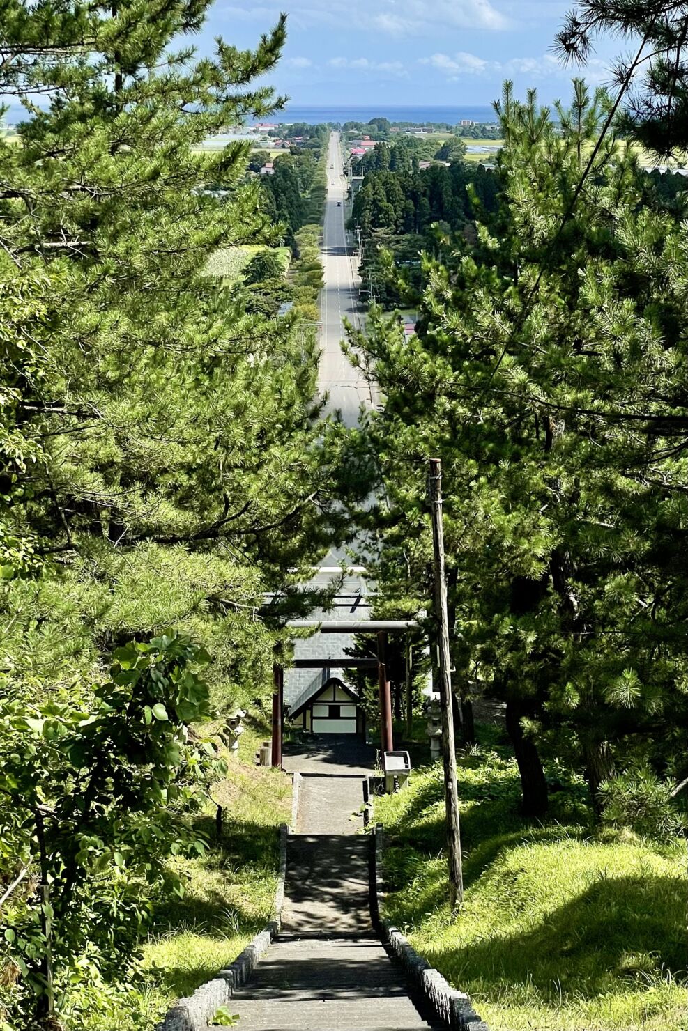
[[[321,736],[285,756],[301,777],[297,831],[287,841],[282,929],[233,996],[240,1031],[427,1031],[403,973],[376,938],[369,909],[371,839],[350,821],[374,750]],[[331,832],[330,832],[331,831]],[[420,1008],[419,1008],[420,1006]]]

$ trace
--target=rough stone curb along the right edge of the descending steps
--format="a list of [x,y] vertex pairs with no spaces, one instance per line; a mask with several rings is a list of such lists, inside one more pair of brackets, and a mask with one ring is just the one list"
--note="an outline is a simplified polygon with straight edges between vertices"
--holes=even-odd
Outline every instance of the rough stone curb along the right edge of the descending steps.
[[459,1031],[489,1031],[487,1024],[480,1019],[465,992],[459,992],[443,977],[438,970],[431,967],[426,959],[416,952],[408,939],[388,920],[380,914],[380,905],[384,899],[382,883],[384,832],[381,824],[374,829],[373,851],[373,920],[378,925],[380,936],[389,945],[390,951],[404,968],[406,975],[416,990],[428,1001],[437,1018],[446,1027],[458,1028]]

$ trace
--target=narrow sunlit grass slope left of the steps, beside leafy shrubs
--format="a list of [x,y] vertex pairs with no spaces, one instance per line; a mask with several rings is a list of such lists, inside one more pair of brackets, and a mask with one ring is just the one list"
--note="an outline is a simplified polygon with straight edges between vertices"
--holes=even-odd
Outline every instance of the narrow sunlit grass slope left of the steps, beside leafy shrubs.
[[[280,824],[291,818],[291,778],[259,768],[253,757],[269,730],[254,727],[240,739],[239,758],[216,784],[212,798],[225,812],[221,845],[202,859],[178,860],[174,870],[187,882],[183,898],[170,894],[157,908],[156,924],[144,945],[146,987],[134,995],[131,1010],[120,1002],[120,1020],[107,1031],[155,1027],[181,996],[238,956],[273,916],[277,882]],[[215,806],[208,806],[207,834],[215,836]],[[102,1018],[84,1031],[105,1031]]]

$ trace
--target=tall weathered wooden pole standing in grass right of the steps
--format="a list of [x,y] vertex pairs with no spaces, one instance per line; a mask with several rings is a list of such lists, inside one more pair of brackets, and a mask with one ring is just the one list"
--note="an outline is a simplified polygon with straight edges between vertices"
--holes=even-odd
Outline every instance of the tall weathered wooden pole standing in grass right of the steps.
[[449,621],[447,617],[447,580],[445,578],[445,533],[441,520],[441,464],[430,459],[428,493],[432,513],[432,553],[435,595],[435,619],[439,638],[439,707],[441,712],[441,755],[445,766],[445,807],[449,843],[449,900],[452,912],[463,904],[461,869],[461,833],[459,795],[456,787],[456,745],[452,711],[452,675],[449,657]]

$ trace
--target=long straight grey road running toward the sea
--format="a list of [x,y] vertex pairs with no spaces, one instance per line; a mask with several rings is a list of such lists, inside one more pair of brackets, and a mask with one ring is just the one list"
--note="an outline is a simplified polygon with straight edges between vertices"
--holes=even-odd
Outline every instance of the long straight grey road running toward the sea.
[[327,201],[323,227],[322,261],[325,286],[320,298],[320,344],[322,354],[318,389],[327,392],[327,412],[339,411],[346,426],[356,426],[361,405],[369,406],[372,397],[363,374],[353,368],[341,353],[343,320],[359,328],[358,260],[347,239],[345,195],[347,179],[342,172],[339,134],[331,133],[327,160]]

